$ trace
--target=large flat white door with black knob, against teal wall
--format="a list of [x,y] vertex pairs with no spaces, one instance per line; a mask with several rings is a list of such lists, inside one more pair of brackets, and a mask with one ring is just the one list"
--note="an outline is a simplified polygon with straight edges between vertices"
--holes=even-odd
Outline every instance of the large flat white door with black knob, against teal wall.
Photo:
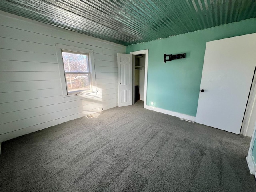
[[196,122],[240,133],[256,59],[256,34],[206,43]]

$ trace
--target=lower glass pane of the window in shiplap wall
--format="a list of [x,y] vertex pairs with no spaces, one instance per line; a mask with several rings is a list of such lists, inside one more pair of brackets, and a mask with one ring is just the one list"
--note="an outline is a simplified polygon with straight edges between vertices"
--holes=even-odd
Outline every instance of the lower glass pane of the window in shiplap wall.
[[89,74],[66,74],[68,92],[90,90]]

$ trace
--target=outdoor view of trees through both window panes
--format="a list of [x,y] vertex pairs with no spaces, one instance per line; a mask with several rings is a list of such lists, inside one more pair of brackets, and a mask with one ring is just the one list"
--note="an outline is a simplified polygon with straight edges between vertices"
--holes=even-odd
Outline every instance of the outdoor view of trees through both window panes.
[[90,90],[88,54],[62,51],[68,93]]

